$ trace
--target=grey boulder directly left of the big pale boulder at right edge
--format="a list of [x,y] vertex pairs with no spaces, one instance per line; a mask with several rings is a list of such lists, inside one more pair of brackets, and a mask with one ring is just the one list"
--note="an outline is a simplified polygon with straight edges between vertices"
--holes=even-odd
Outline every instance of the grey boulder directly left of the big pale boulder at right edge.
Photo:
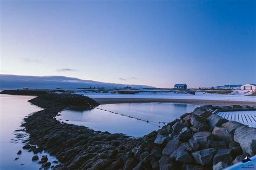
[[233,132],[231,131],[230,128],[225,128],[225,127],[215,126],[212,130],[212,134],[215,135],[215,139],[225,141],[227,146],[230,142],[234,140],[232,133]]

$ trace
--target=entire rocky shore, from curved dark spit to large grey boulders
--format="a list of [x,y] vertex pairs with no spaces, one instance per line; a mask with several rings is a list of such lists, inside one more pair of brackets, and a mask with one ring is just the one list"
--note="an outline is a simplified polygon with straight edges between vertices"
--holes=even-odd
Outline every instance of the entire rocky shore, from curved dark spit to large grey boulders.
[[[256,128],[213,114],[226,108],[255,109],[250,106],[198,107],[158,131],[133,139],[55,119],[65,108],[91,109],[99,105],[88,97],[46,93],[30,102],[44,110],[25,118],[23,126],[30,134],[25,148],[55,155],[61,164],[53,169],[217,170],[256,154]],[[42,159],[44,166],[51,165]]]

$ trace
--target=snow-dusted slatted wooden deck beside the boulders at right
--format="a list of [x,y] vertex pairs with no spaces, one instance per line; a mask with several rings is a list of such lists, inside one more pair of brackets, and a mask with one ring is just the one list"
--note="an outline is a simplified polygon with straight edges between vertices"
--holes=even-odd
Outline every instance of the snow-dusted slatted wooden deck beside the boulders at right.
[[250,127],[256,127],[256,111],[218,112],[216,114],[227,120],[237,121]]

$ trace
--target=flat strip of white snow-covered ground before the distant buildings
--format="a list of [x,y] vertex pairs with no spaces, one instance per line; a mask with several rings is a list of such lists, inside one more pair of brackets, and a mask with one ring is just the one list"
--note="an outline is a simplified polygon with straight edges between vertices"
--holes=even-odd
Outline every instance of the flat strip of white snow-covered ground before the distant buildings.
[[153,98],[153,99],[197,99],[197,100],[224,100],[224,101],[255,101],[255,96],[245,96],[242,92],[235,91],[232,94],[211,94],[196,92],[193,94],[182,94],[173,92],[141,92],[137,94],[118,94],[118,93],[95,93],[95,92],[75,92],[84,94],[90,98]]

